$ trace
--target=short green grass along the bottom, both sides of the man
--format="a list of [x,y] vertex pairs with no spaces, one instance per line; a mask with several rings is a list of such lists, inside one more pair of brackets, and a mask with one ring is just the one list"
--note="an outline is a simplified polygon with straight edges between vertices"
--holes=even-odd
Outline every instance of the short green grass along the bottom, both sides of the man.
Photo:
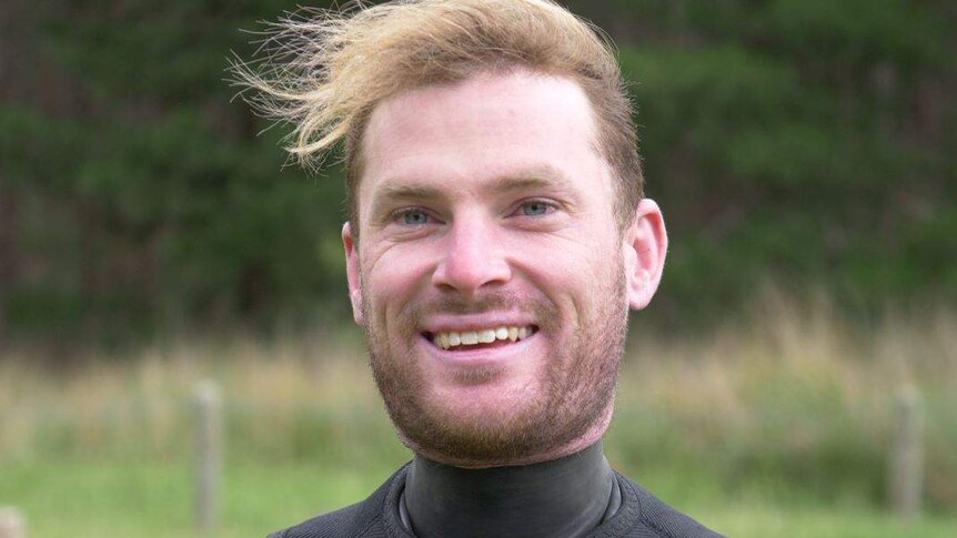
[[[309,464],[228,466],[216,537],[265,536],[315,514],[363,499],[393,467],[328,468]],[[702,522],[734,537],[880,538],[957,536],[957,519],[928,517],[906,524],[862,506],[825,506],[813,499],[775,504],[738,494],[714,496],[713,484],[675,488],[665,474],[647,487]],[[703,489],[705,495],[693,491]],[[684,491],[684,494],[679,493]],[[691,493],[691,495],[688,495]],[[26,515],[29,536],[200,536],[192,520],[190,466],[46,460],[4,467],[0,504]]]

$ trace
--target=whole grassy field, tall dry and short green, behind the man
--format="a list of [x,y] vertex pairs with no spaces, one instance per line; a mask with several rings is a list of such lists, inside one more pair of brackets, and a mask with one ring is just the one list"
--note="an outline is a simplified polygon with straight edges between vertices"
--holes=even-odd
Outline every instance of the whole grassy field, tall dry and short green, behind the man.
[[[695,341],[633,331],[613,465],[737,537],[957,536],[957,325],[948,312],[862,328],[824,307]],[[191,390],[225,398],[223,537],[263,536],[364,498],[409,453],[354,333],[0,362],[0,506],[30,537],[198,535]],[[895,394],[926,412],[926,511],[885,510]]]

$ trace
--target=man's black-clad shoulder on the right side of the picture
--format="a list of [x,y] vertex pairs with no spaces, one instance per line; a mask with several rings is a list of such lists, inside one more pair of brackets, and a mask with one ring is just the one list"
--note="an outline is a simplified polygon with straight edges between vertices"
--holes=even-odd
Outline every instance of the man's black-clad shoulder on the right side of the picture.
[[722,538],[722,535],[668,506],[637,483],[621,474],[617,476],[622,488],[622,508],[613,519],[623,516],[622,522],[629,520],[631,528],[616,536]]

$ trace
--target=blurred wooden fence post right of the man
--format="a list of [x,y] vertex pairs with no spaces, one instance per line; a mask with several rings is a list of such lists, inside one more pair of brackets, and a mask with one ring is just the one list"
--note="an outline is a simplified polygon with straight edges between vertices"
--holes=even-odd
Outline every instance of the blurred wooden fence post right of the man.
[[890,507],[911,519],[920,514],[924,494],[924,406],[914,385],[897,394],[896,430],[890,445]]

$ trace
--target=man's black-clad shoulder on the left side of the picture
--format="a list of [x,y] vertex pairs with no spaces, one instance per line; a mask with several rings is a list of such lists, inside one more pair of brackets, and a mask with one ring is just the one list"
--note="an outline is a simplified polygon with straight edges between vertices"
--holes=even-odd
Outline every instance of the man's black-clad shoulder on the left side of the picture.
[[308,519],[294,527],[269,535],[266,538],[353,538],[384,536],[383,512],[393,485],[405,477],[405,467],[395,471],[362,503]]

